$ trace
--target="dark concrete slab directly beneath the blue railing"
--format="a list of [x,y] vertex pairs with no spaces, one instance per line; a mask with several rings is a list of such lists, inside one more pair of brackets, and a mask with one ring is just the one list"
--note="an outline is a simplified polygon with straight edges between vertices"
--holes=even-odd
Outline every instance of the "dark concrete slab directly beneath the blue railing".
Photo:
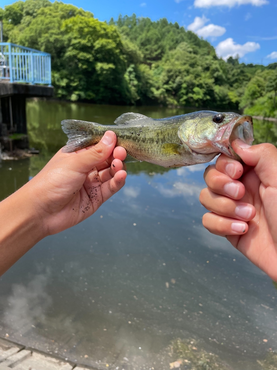
[[44,85],[30,85],[21,83],[4,83],[0,81],[0,97],[11,95],[25,95],[25,97],[52,97],[54,87]]

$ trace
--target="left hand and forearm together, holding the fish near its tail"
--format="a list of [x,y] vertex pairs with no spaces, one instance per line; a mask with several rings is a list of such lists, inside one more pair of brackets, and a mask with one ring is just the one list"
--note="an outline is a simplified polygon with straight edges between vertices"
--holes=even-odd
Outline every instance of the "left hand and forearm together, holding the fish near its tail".
[[59,150],[27,184],[0,202],[0,275],[47,235],[88,218],[125,183],[126,150],[107,131],[95,146]]

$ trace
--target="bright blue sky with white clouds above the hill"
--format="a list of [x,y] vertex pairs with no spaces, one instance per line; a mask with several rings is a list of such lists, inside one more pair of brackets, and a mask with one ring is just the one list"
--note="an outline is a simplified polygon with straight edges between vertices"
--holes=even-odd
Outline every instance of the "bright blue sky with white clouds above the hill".
[[[14,1],[0,0],[4,7]],[[207,39],[219,56],[240,55],[245,63],[277,61],[277,0],[72,0],[99,20],[122,15],[166,17]]]

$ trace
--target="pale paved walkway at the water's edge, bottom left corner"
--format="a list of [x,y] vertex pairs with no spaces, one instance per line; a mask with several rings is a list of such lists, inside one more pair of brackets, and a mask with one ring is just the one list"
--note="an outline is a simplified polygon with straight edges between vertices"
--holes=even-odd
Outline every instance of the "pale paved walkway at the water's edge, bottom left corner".
[[0,370],[89,370],[0,338]]

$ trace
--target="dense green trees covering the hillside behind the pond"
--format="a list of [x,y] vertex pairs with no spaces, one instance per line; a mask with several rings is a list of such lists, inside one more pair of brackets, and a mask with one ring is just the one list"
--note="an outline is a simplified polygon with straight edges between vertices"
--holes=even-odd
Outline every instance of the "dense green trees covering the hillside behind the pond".
[[277,115],[277,63],[226,62],[208,41],[166,19],[133,15],[106,23],[49,0],[17,1],[0,16],[4,41],[51,53],[57,97]]

